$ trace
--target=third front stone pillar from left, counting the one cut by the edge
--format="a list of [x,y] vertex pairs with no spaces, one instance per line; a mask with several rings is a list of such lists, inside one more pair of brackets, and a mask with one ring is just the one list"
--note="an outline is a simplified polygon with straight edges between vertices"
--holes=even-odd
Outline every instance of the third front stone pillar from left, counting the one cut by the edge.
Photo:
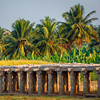
[[26,82],[26,72],[20,71],[20,93],[25,92]]

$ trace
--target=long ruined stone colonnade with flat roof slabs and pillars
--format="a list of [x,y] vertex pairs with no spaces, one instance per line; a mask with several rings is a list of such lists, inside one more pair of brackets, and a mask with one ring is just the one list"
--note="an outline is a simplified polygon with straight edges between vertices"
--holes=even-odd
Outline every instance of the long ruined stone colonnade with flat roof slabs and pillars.
[[100,96],[100,64],[51,64],[0,66],[0,94],[27,93],[76,95],[83,75],[83,95],[90,93],[90,72],[97,73]]

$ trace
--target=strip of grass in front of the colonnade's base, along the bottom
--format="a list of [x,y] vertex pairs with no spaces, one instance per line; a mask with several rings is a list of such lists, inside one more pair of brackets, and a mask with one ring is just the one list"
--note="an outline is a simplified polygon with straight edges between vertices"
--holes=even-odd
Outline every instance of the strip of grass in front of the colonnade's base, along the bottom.
[[83,98],[69,96],[0,96],[0,100],[100,100],[100,98]]

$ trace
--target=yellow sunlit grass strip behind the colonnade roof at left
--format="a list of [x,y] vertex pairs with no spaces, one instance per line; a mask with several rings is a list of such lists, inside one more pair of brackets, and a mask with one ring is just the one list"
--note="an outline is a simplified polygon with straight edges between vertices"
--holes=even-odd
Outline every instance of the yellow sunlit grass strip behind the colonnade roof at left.
[[47,61],[38,60],[1,60],[0,65],[22,65],[22,64],[51,64]]

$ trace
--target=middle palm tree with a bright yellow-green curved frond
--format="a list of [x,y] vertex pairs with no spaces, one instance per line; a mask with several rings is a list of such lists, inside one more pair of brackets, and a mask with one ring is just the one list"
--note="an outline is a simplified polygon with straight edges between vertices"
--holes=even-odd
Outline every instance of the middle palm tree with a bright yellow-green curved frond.
[[42,54],[49,53],[49,56],[57,52],[61,54],[64,50],[60,43],[63,39],[57,38],[56,24],[54,19],[45,17],[45,20],[41,20],[41,24],[36,26],[37,35],[33,41]]

